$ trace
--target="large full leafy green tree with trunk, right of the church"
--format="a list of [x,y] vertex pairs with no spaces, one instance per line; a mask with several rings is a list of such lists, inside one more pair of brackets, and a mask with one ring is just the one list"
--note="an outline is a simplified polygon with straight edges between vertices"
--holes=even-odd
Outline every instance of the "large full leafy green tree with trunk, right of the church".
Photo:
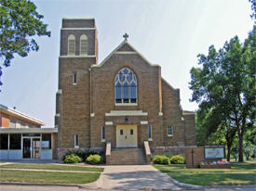
[[211,45],[208,56],[198,55],[202,68],[190,71],[192,101],[199,103],[203,115],[210,111],[208,121],[219,121],[218,125],[230,121],[236,127],[239,161],[243,161],[244,133],[255,122],[255,39],[254,26],[244,44],[236,36],[218,52]]

